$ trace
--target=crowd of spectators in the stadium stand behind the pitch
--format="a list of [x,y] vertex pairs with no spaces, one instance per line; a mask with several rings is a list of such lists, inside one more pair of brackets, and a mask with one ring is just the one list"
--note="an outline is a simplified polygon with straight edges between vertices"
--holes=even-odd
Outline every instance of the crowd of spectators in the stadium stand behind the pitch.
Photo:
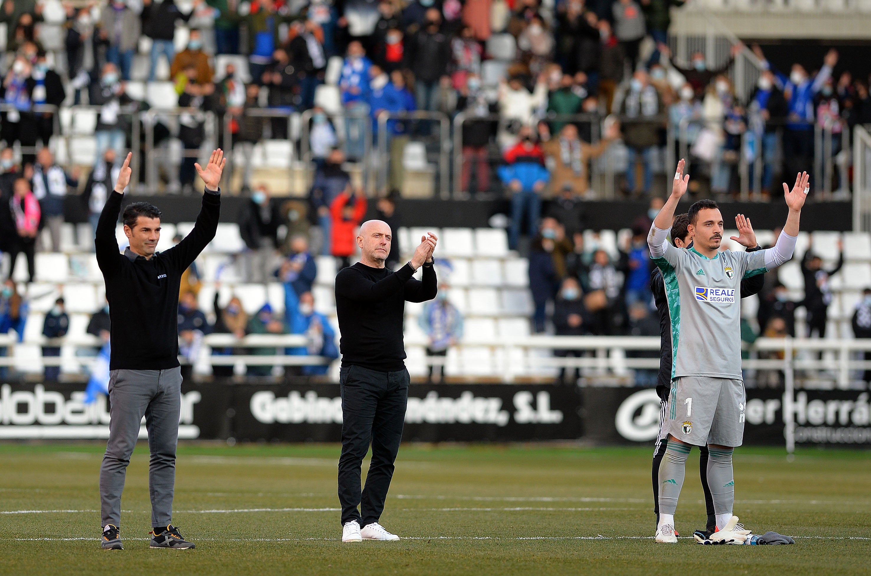
[[[671,126],[685,132],[691,195],[722,198],[738,191],[738,158],[744,152],[742,138],[749,136],[753,153],[762,158],[761,193],[767,198],[776,195],[775,178],[781,172],[810,170],[815,124],[830,129],[832,153],[837,154],[842,132],[871,122],[867,80],[852,78],[849,71],[835,75],[835,51],[827,53],[818,70],[794,64],[779,71],[753,46],[765,71],[748,98],[734,91],[727,73],[733,60],[716,69],[701,53],[678,62],[668,49],[666,33],[670,8],[682,3],[193,0],[182,6],[173,0],[87,5],[3,0],[0,22],[8,34],[0,58],[0,250],[11,255],[13,267],[17,254],[24,253],[32,281],[35,252],[60,250],[67,195],[78,193],[91,223],[96,222],[118,164],[131,147],[132,117],[125,111],[147,106],[127,90],[140,41],[147,37],[149,81],[165,58],[179,106],[195,109],[179,118],[174,136],[187,151],[204,145],[201,112],[231,117],[226,127],[220,125],[218,137],[224,142],[222,131],[229,130],[234,150],[246,158],[241,182],[250,201],[239,220],[246,245],[243,275],[246,281],[278,280],[288,288],[283,315],[273,314],[267,304],[247,317],[238,301],[225,308],[216,301],[217,321],[212,325],[196,309],[195,299],[183,294],[183,354],[194,354],[199,345],[195,335],[210,330],[307,333],[312,345],[294,353],[335,353],[329,322],[314,312],[316,269],[308,233],[310,228],[320,232],[312,236],[318,254],[348,265],[354,229],[373,201],[353,183],[348,162],[363,158],[371,145],[367,134],[378,132],[376,118],[382,111],[442,112],[449,118],[465,114],[460,186],[470,193],[510,194],[510,247],[521,247],[524,233],[530,238],[535,332],[552,326],[558,335],[657,335],[648,305],[650,261],[644,237],[649,221],[632,223],[631,240],[619,247],[617,258],[584,243],[584,200],[596,197],[591,160],[622,142],[628,162],[618,187],[627,195],[652,196],[654,173],[661,172],[654,165],[662,165],[665,132]],[[180,24],[190,33],[185,49],[176,52],[173,38]],[[741,50],[744,46],[735,44],[733,55]],[[247,75],[237,64],[215,70],[217,55],[240,55]],[[348,114],[341,120],[316,98],[333,57],[341,58],[335,86]],[[96,161],[86,177],[78,167],[58,165],[46,146],[57,125],[51,106],[62,103],[100,106],[94,129]],[[307,200],[278,201],[270,198],[267,186],[252,186],[254,146],[265,138],[291,137],[286,115],[270,119],[251,113],[261,108],[286,115],[312,112],[307,144],[314,175]],[[547,113],[591,114],[595,121],[541,120]],[[618,121],[604,122],[599,131],[600,120],[611,113]],[[370,132],[362,129],[367,127]],[[155,145],[165,146],[170,131],[159,123],[153,130]],[[389,120],[387,131],[388,182],[374,201],[380,217],[396,230],[402,225],[395,214],[395,195],[405,178],[405,146],[411,138],[438,136],[425,122],[403,119]],[[775,162],[778,150],[782,170]],[[165,174],[167,191],[192,192],[194,155],[186,155],[176,173]],[[832,189],[846,186],[838,173],[833,178]],[[544,213],[543,200],[550,200]],[[280,236],[281,227],[287,233]],[[41,243],[43,228],[50,233],[51,246]],[[395,246],[388,264],[399,262],[399,254]],[[776,277],[766,282],[760,295],[764,334],[792,335],[797,306],[807,308],[814,334],[825,334],[831,302],[827,275],[837,268],[825,269],[819,258],[808,255],[802,269],[804,302],[788,302]],[[62,335],[63,302],[57,302],[57,310],[46,315],[44,335]],[[7,281],[0,295],[0,332],[15,329],[23,334],[26,315],[26,299]],[[858,335],[871,326],[868,306],[860,307],[857,315]],[[447,301],[427,308],[421,322],[430,337],[430,355],[443,354],[462,337],[462,314]],[[224,369],[216,367],[216,373]]]

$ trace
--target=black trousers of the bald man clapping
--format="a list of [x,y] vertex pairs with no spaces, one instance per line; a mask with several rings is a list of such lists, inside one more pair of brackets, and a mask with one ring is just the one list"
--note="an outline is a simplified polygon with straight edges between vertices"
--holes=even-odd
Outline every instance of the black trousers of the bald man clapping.
[[[354,365],[341,367],[339,503],[342,525],[356,520],[362,528],[381,518],[402,440],[409,382],[407,369],[379,372]],[[366,487],[361,491],[361,464],[369,444],[372,444],[372,462],[366,475]]]

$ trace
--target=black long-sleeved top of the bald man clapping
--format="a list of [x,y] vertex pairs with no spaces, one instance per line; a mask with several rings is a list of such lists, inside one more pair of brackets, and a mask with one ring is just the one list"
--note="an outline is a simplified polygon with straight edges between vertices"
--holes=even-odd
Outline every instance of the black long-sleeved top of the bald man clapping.
[[396,272],[357,262],[335,277],[335,310],[341,331],[341,363],[380,372],[405,369],[402,340],[405,301],[436,297],[436,270],[423,267],[423,280],[406,264]]

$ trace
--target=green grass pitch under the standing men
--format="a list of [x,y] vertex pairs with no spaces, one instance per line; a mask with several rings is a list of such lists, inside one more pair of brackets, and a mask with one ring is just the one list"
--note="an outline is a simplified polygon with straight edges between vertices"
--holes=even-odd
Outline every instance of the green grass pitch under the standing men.
[[[122,505],[123,552],[98,547],[102,451],[96,443],[0,444],[0,511],[78,511],[0,514],[0,573],[798,576],[871,570],[868,451],[804,449],[787,462],[780,449],[739,449],[735,512],[741,520],[754,532],[806,538],[796,546],[697,546],[691,539],[666,546],[650,538],[646,447],[403,445],[381,521],[412,538],[343,545],[335,510],[338,446],[183,444],[174,521],[197,548],[172,551],[151,550],[145,539],[148,455],[140,443]],[[687,467],[677,516],[684,536],[705,521],[698,451]],[[240,510],[251,512],[214,512]]]

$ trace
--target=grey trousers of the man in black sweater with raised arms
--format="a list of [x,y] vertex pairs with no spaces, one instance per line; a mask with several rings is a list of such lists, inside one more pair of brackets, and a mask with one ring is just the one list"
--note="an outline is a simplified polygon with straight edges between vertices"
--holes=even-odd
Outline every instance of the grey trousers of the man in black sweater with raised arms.
[[152,453],[148,487],[152,497],[152,526],[172,520],[175,494],[175,449],[179,444],[181,369],[112,370],[109,377],[109,443],[100,466],[102,526],[121,525],[121,492],[127,464],[145,416],[148,448]]

